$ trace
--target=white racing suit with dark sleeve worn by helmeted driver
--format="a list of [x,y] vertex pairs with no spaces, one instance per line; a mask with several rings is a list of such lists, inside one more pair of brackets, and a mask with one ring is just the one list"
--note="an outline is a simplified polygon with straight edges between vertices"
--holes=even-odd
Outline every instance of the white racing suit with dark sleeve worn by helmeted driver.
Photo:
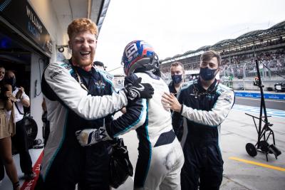
[[170,110],[165,110],[161,102],[162,94],[169,93],[168,87],[156,75],[135,73],[133,78],[137,77],[155,89],[152,99],[129,102],[127,112],[107,125],[106,130],[110,137],[130,130],[136,130],[138,134],[135,189],[180,189],[184,156],[172,128]]

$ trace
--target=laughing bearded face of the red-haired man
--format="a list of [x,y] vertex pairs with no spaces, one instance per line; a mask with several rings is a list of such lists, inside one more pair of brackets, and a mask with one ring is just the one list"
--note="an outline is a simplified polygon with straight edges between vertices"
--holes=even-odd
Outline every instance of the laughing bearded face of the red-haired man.
[[93,64],[97,40],[95,34],[90,31],[73,33],[68,42],[72,50],[73,64],[86,67]]

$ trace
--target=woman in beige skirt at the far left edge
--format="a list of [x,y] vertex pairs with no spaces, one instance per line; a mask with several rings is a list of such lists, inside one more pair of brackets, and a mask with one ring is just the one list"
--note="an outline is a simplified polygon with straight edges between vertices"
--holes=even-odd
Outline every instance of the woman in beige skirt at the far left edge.
[[[1,179],[4,178],[4,167],[6,174],[13,183],[14,190],[20,190],[18,174],[14,160],[12,157],[11,137],[15,134],[14,112],[12,111],[10,117],[7,117],[7,111],[13,109],[13,102],[15,101],[12,95],[11,85],[3,83],[2,75],[5,74],[4,67],[0,66],[1,70],[1,93],[0,93],[0,161]],[[4,167],[3,167],[4,164]],[[1,180],[0,179],[0,180]]]

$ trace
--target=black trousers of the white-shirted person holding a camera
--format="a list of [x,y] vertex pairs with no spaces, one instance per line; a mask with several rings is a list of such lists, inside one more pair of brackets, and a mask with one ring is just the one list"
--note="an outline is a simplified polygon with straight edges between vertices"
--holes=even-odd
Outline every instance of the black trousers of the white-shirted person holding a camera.
[[22,120],[16,122],[16,134],[11,138],[13,146],[18,150],[20,155],[21,171],[24,174],[33,172],[31,156],[28,152],[28,136]]

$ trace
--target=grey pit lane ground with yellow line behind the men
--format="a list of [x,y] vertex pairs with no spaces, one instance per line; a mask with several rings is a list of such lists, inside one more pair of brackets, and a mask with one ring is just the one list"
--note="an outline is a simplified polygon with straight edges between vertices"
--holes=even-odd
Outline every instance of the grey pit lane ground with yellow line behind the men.
[[[273,124],[271,129],[274,130],[276,147],[281,150],[282,154],[277,159],[274,154],[269,154],[269,161],[266,162],[265,154],[258,152],[256,157],[251,157],[245,149],[247,143],[257,143],[257,130],[254,122],[252,117],[245,113],[256,117],[259,117],[259,113],[252,112],[251,107],[248,107],[248,110],[239,109],[239,107],[241,106],[237,105],[237,108],[232,109],[222,123],[221,149],[224,159],[224,175],[220,189],[285,189],[285,117],[268,118]],[[138,158],[136,133],[132,131],[122,137],[135,169]],[[271,138],[269,144],[272,144]],[[133,189],[133,178],[129,177],[118,189]]]

